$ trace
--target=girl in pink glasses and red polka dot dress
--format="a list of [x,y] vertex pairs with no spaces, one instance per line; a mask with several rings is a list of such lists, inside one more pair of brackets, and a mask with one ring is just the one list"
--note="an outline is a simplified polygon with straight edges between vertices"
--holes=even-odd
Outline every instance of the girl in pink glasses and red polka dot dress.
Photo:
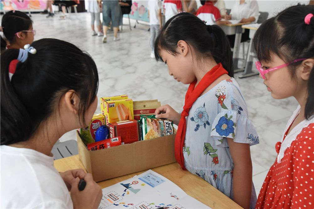
[[253,47],[260,77],[274,99],[299,105],[276,143],[256,208],[313,208],[314,6],[286,8],[256,31]]

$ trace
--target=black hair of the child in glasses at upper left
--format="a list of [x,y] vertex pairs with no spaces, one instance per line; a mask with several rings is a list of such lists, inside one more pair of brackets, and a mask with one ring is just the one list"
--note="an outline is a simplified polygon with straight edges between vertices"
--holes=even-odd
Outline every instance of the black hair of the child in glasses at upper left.
[[5,13],[1,22],[3,34],[10,44],[14,44],[16,41],[15,33],[30,29],[32,24],[33,22],[30,17],[20,11],[9,11]]

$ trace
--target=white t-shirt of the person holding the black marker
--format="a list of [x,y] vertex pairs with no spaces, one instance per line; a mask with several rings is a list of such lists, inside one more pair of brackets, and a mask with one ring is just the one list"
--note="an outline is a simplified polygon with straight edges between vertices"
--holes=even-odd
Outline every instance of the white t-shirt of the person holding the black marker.
[[0,152],[1,208],[73,208],[53,157],[5,145]]

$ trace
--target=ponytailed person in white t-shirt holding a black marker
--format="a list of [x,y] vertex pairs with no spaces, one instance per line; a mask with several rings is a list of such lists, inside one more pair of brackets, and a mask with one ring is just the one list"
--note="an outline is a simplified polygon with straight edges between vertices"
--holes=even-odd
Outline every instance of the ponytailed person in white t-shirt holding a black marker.
[[[1,53],[0,207],[98,208],[102,191],[92,175],[83,169],[58,173],[51,153],[64,133],[86,127],[95,112],[95,62],[57,39],[25,48]],[[19,63],[10,79],[14,59]],[[86,181],[82,191],[80,179]]]

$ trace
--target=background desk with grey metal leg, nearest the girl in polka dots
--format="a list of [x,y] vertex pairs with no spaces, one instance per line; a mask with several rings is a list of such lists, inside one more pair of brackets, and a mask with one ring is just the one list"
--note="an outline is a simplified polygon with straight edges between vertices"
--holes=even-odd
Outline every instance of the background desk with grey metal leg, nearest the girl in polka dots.
[[239,76],[239,78],[247,78],[250,76],[254,76],[254,75],[258,75],[259,72],[253,72],[252,71],[252,65],[253,65],[253,57],[254,57],[254,53],[252,53],[252,42],[253,42],[253,37],[254,34],[257,30],[257,28],[260,26],[261,24],[249,24],[249,25],[242,25],[243,29],[250,29],[250,45],[249,45],[249,49],[247,51],[247,56],[246,56],[246,63],[245,63],[245,67],[244,67],[244,72],[242,73],[242,75]]

